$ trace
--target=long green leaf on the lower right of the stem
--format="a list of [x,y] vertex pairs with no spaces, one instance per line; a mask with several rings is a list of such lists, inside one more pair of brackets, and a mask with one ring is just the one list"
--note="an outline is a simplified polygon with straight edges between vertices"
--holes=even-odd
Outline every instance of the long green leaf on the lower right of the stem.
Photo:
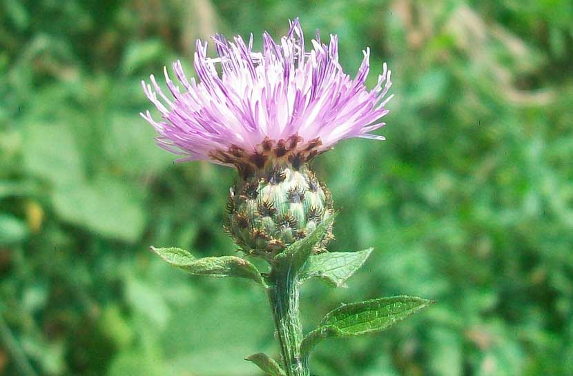
[[431,301],[427,299],[401,295],[341,306],[327,313],[318,328],[304,337],[301,353],[308,357],[310,350],[322,339],[381,332],[429,304]]

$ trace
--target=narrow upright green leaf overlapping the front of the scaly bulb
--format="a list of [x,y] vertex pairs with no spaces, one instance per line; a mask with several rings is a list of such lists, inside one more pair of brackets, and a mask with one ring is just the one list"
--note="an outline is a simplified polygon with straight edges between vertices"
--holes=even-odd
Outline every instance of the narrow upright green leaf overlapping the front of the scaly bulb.
[[307,237],[304,237],[293,244],[288,246],[282,253],[275,256],[275,264],[288,264],[289,270],[297,273],[298,270],[304,265],[309,259],[312,248],[317,244],[324,233],[327,232],[328,228],[332,226],[334,218],[336,217],[336,212],[327,218],[322,224],[316,226],[315,230],[311,232]]

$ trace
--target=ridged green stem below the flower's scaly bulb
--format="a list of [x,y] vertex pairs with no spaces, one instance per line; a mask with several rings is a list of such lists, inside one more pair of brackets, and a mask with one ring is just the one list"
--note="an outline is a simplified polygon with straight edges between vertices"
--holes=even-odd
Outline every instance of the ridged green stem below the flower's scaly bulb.
[[[309,368],[300,357],[302,326],[299,319],[298,279],[296,273],[273,270],[267,293],[273,310],[286,376],[309,376]],[[305,362],[306,363],[306,362]]]

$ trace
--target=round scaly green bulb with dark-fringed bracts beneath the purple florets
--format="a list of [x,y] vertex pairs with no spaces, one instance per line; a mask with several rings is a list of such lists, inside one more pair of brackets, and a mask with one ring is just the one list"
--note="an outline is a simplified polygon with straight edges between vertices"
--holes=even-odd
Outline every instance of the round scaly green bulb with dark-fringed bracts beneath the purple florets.
[[[332,215],[330,191],[308,164],[266,164],[237,178],[224,227],[246,253],[269,258]],[[332,237],[330,227],[313,253],[326,250]]]

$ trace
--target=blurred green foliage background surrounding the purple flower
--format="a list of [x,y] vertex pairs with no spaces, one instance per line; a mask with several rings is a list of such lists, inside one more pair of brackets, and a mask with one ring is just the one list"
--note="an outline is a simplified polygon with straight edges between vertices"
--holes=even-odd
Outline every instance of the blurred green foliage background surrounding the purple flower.
[[[431,5],[433,4],[433,5]],[[278,355],[264,293],[147,248],[233,254],[230,168],[173,164],[140,81],[214,32],[340,37],[353,75],[393,70],[385,142],[314,167],[331,250],[376,247],[340,301],[438,300],[381,335],[321,344],[318,376],[573,375],[573,3],[0,0],[0,375],[255,376]],[[157,115],[157,112],[153,112]]]

